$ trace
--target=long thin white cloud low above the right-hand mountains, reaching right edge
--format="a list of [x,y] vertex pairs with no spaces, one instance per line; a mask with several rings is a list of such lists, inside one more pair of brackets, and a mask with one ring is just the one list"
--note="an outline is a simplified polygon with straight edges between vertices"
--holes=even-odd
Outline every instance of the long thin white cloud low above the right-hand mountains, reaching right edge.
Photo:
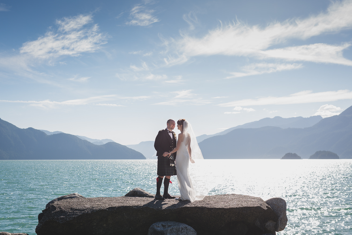
[[284,97],[261,97],[257,99],[243,99],[219,104],[222,107],[231,106],[253,106],[271,104],[306,104],[314,102],[329,102],[343,99],[352,99],[352,92],[349,90],[326,91],[312,93],[312,91],[301,91]]

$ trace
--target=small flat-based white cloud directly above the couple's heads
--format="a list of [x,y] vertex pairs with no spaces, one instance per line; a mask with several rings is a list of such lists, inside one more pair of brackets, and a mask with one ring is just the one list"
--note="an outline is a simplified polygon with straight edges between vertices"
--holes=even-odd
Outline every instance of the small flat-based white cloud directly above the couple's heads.
[[205,100],[199,97],[198,94],[192,93],[193,90],[181,90],[171,92],[171,94],[175,94],[174,97],[167,101],[163,101],[160,103],[156,103],[155,105],[203,105],[203,104],[210,104],[210,100]]

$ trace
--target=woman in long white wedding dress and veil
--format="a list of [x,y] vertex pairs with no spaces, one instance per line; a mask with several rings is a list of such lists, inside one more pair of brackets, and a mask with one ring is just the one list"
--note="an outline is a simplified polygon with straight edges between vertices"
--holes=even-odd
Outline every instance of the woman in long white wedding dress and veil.
[[181,133],[178,134],[176,148],[169,153],[172,154],[177,151],[175,164],[181,197],[176,199],[194,202],[195,200],[203,199],[204,196],[197,193],[193,187],[188,172],[188,163],[195,163],[194,159],[203,159],[203,155],[198,146],[191,124],[185,119],[179,119],[177,121],[177,129],[180,130]]

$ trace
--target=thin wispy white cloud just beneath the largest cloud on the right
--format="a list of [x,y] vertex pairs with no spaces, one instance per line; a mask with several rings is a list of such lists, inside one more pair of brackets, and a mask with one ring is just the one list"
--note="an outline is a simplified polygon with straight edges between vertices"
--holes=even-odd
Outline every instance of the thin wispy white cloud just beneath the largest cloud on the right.
[[302,64],[274,64],[274,63],[254,63],[242,67],[244,73],[233,72],[232,76],[226,78],[240,78],[244,76],[259,75],[264,73],[274,73],[283,70],[302,68]]

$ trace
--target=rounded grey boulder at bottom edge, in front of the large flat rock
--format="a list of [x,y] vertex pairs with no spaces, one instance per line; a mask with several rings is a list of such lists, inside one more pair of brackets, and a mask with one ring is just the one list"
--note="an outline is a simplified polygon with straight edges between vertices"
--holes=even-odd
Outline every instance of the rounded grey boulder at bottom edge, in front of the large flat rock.
[[148,235],[197,235],[197,233],[187,224],[164,221],[153,223],[148,230]]

